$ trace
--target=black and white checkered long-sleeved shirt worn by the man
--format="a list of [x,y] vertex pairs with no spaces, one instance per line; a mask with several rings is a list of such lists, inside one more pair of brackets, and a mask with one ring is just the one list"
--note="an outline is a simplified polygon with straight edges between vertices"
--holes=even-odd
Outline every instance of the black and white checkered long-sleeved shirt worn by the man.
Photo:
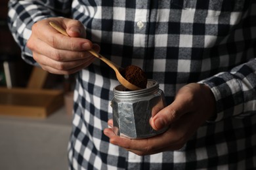
[[[158,80],[171,103],[189,82],[209,86],[217,118],[181,149],[137,156],[109,143],[102,130],[112,117],[114,72],[95,62],[79,72],[74,95],[70,169],[255,169],[256,2],[10,1],[11,31],[23,58],[32,24],[50,16],[81,21],[101,54],[123,67],[138,65]],[[72,10],[70,6],[72,5]]]

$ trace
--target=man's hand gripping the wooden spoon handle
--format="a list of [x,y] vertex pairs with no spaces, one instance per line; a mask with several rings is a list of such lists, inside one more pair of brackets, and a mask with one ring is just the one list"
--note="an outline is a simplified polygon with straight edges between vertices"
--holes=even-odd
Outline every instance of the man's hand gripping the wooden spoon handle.
[[[51,27],[50,21],[62,25],[69,37]],[[95,57],[86,52],[87,50],[100,50],[99,46],[85,37],[85,28],[77,20],[49,18],[33,25],[27,46],[32,50],[33,58],[42,69],[66,75],[75,73],[94,61]]]

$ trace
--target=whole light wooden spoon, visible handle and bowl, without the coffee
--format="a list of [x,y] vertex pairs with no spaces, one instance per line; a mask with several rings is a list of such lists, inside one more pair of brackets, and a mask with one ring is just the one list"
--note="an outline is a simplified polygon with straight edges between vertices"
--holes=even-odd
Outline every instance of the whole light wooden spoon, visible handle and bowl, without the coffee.
[[[59,31],[60,33],[62,33],[63,35],[68,36],[68,33],[66,33],[66,30],[63,29],[62,27],[60,27],[60,25],[56,24],[55,22],[49,22],[49,24],[56,29],[57,31]],[[115,63],[113,63],[112,61],[110,61],[107,58],[104,58],[104,56],[102,56],[101,54],[96,53],[94,50],[88,50],[88,52],[90,52],[91,54],[93,54],[93,56],[95,56],[96,58],[101,59],[102,61],[104,61],[104,63],[106,63],[108,66],[110,66],[112,69],[114,69],[114,71],[116,72],[116,78],[117,80],[127,89],[129,90],[140,90],[141,88],[135,86],[134,84],[131,84],[129,81],[127,81],[120,73],[120,71],[123,70],[122,67],[119,67],[118,65],[116,65]]]

